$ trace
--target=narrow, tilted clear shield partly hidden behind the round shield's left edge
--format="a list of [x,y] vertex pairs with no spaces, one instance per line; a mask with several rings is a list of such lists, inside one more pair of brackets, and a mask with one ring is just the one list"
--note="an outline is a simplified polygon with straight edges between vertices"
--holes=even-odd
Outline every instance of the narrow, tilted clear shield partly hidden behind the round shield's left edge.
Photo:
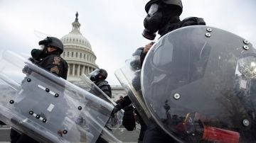
[[124,88],[124,91],[126,91],[135,108],[137,108],[142,120],[147,124],[150,114],[146,109],[146,105],[142,97],[140,83],[141,70],[133,67],[134,62],[134,60],[127,60],[124,67],[117,69],[114,74],[117,76],[117,79]]

